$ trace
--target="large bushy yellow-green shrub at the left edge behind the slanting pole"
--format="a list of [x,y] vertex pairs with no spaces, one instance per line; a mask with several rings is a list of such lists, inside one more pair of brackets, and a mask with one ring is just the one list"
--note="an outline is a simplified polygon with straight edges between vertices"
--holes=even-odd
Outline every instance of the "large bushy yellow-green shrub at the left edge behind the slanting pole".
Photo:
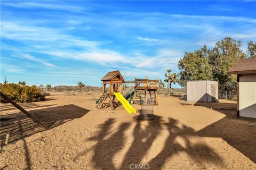
[[[20,86],[15,83],[0,83],[0,88],[3,94],[12,99],[15,102],[28,103],[35,101],[45,100],[45,95],[41,93],[36,86]],[[1,98],[1,103],[6,103],[3,98]]]

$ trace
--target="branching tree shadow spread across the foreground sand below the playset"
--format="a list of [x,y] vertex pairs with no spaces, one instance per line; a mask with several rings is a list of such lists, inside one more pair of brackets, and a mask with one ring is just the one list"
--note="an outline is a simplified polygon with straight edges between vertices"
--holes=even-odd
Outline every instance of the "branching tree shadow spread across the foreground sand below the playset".
[[[88,141],[97,142],[91,148],[94,152],[92,161],[95,169],[129,169],[131,164],[141,164],[141,162],[145,162],[143,159],[147,157],[149,150],[158,149],[154,143],[156,140],[161,141],[164,147],[159,152],[156,152],[155,157],[146,160],[147,164],[150,165],[150,169],[161,169],[166,163],[169,164],[167,159],[179,152],[186,152],[196,165],[202,168],[205,168],[205,164],[208,163],[222,164],[221,158],[209,146],[204,143],[193,144],[190,142],[189,138],[195,137],[196,132],[173,118],[169,118],[169,121],[165,122],[161,117],[158,117],[148,124],[137,120],[135,126],[134,122],[121,123],[118,129],[109,137],[109,134],[113,132],[114,124],[115,120],[109,118],[100,125],[99,133],[88,139]],[[127,138],[125,134],[126,131],[131,130],[133,140]],[[169,133],[167,139],[161,138],[163,130]],[[175,140],[177,137],[185,141],[185,146],[180,145]],[[122,150],[125,143],[127,145],[127,141],[130,144],[130,148]],[[84,156],[86,153],[87,151],[77,157]],[[119,158],[116,161],[116,155],[120,153],[124,156],[122,156],[122,160]]]

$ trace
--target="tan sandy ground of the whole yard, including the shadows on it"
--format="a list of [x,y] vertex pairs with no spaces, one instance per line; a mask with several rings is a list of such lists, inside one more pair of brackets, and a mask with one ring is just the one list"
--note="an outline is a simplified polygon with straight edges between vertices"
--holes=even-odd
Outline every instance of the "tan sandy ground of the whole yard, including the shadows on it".
[[256,169],[256,122],[236,118],[235,101],[159,96],[153,121],[122,106],[98,110],[84,95],[20,105],[49,129],[1,104],[1,141],[10,134],[1,169]]

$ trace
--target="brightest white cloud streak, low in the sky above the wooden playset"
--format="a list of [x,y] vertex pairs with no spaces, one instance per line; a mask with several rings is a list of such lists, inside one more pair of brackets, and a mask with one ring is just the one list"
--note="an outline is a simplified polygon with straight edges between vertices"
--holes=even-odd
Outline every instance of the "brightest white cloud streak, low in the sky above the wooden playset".
[[[95,62],[101,65],[116,65],[122,67],[122,65],[130,65],[131,69],[167,69],[171,66],[176,66],[177,62],[182,57],[182,53],[177,50],[161,49],[154,56],[147,56],[140,53],[131,53],[129,55],[123,55],[111,50],[98,49],[91,52],[68,52],[68,51],[45,51],[41,52],[57,56],[60,58],[71,58],[73,60],[84,62]],[[156,64],[157,63],[157,64]]]

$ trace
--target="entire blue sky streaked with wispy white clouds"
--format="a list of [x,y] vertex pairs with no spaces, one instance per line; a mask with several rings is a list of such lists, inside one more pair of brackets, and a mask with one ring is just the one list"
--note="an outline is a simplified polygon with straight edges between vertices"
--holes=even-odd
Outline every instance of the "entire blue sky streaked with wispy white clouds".
[[[256,41],[255,1],[1,1],[1,82],[101,86],[179,72],[184,52]],[[176,84],[174,87],[179,87]]]

